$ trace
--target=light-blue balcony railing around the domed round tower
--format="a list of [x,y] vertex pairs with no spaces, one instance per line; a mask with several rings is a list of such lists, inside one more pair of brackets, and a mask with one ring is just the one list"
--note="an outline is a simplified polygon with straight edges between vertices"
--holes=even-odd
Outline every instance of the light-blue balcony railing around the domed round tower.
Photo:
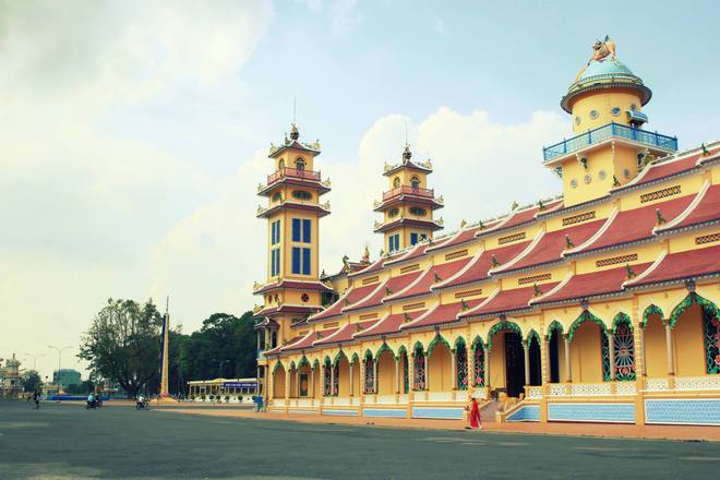
[[598,127],[595,130],[564,140],[555,145],[542,148],[544,161],[550,161],[565,154],[577,152],[586,146],[600,143],[610,137],[632,140],[647,146],[655,146],[667,151],[677,149],[677,137],[661,135],[660,133],[648,132],[647,130],[634,129],[622,123],[611,122],[607,125]]

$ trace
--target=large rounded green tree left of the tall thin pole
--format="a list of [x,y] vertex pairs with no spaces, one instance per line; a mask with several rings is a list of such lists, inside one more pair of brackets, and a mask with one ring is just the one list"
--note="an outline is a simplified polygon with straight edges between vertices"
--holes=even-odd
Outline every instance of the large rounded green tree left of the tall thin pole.
[[157,384],[163,317],[148,300],[108,299],[84,334],[79,357],[95,375],[110,379],[130,396]]

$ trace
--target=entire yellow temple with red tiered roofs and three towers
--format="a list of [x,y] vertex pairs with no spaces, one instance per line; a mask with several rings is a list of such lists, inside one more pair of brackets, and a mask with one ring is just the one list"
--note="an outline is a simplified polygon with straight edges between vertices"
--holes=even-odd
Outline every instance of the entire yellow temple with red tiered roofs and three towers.
[[485,413],[500,398],[499,421],[720,424],[720,142],[644,128],[650,88],[593,48],[561,100],[575,136],[542,152],[561,196],[437,236],[432,165],[406,147],[374,205],[385,253],[336,275],[320,145],[293,125],[271,147],[254,291],[271,411],[461,419],[472,396]]

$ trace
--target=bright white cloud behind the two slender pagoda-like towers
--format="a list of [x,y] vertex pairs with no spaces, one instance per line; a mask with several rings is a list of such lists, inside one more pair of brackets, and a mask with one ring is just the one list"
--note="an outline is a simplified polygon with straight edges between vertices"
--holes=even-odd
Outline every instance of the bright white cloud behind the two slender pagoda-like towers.
[[[324,197],[333,213],[320,220],[321,267],[327,273],[339,269],[344,254],[359,259],[367,243],[373,257],[382,248],[382,236],[372,231],[381,218],[372,205],[388,189],[383,166],[399,161],[406,128],[413,158],[433,159],[430,184],[445,197],[436,216],[445,218],[447,230],[456,229],[461,218],[506,213],[513,201],[529,203],[560,193],[560,182],[541,165],[542,142],[568,128],[555,113],[536,112],[512,125],[492,121],[482,110],[463,115],[447,107],[419,123],[403,115],[385,116],[364,133],[353,161],[325,155],[316,160],[333,187]],[[172,291],[183,315],[202,319],[211,305],[241,313],[260,302],[251,289],[254,280],[265,280],[267,227],[254,213],[264,202],[255,195],[256,184],[272,168],[266,155],[259,151],[244,161],[217,187],[215,201],[181,220],[155,247],[156,291]]]

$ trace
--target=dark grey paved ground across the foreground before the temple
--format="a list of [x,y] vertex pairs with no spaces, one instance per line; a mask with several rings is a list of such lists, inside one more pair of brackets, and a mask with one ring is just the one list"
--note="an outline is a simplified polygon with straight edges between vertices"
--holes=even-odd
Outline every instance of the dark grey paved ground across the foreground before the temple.
[[712,476],[720,443],[315,424],[0,401],[1,479]]

